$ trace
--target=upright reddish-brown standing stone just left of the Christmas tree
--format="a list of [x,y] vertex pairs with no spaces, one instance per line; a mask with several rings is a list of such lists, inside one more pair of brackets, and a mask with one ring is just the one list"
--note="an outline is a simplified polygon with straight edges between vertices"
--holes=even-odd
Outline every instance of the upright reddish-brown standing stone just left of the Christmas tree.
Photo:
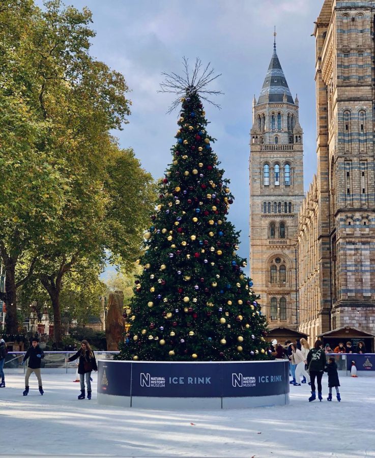
[[124,332],[124,293],[115,291],[109,294],[109,305],[107,318],[105,320],[105,338],[107,339],[107,350],[118,351],[119,342]]

